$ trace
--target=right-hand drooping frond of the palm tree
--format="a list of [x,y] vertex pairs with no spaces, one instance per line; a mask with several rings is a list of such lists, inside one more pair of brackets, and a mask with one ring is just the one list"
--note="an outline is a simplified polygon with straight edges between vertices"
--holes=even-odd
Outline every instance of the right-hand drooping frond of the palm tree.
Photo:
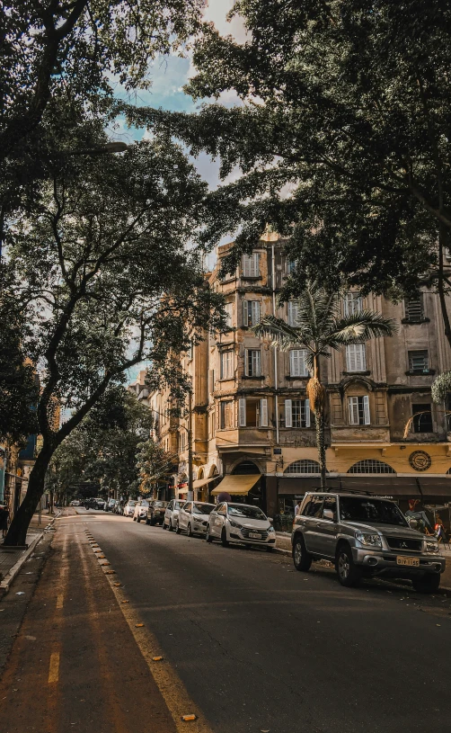
[[358,344],[377,336],[391,336],[396,330],[393,318],[385,318],[373,310],[360,310],[334,320],[328,341],[332,348],[337,348],[338,345]]

